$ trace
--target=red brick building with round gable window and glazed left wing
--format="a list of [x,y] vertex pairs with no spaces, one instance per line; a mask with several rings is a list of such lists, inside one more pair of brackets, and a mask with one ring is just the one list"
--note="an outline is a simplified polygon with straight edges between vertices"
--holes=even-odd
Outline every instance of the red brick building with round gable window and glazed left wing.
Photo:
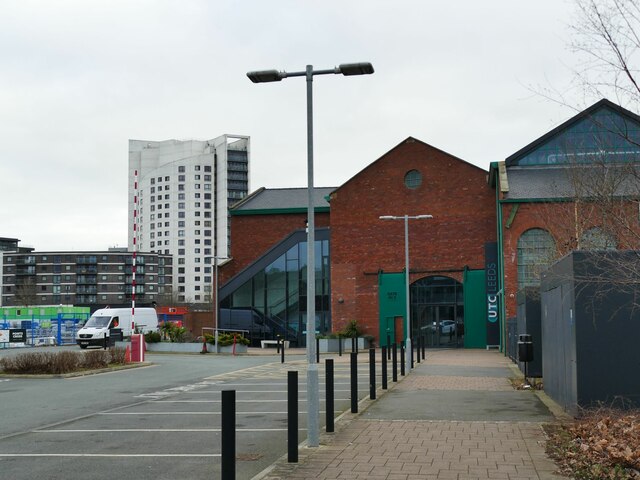
[[[267,334],[297,335],[298,343],[306,319],[306,253],[299,247],[306,239],[304,195],[306,189],[261,189],[231,209],[232,259],[221,268],[220,292],[223,309],[258,311]],[[406,295],[399,289],[389,303],[379,298],[379,285],[405,278],[404,227],[379,217],[431,214],[409,228],[410,278],[417,294],[440,296],[416,300],[414,335],[434,337],[449,320],[456,325],[445,332],[446,343],[462,345],[466,323],[484,346],[486,310],[465,309],[463,290],[474,283],[475,305],[485,301],[477,273],[484,271],[485,243],[495,242],[495,192],[486,171],[410,137],[344,185],[316,189],[316,212],[320,331],[356,320],[363,333],[386,341],[381,312],[403,318]],[[405,334],[401,325],[397,335]]]

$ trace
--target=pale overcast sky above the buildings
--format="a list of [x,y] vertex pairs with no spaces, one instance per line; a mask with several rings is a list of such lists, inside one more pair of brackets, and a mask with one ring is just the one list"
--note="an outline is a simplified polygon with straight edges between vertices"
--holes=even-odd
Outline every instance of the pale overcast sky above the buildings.
[[305,82],[250,70],[368,61],[314,81],[315,184],[408,136],[484,169],[573,115],[570,0],[2,0],[0,236],[126,246],[128,139],[251,136],[250,187],[306,186]]

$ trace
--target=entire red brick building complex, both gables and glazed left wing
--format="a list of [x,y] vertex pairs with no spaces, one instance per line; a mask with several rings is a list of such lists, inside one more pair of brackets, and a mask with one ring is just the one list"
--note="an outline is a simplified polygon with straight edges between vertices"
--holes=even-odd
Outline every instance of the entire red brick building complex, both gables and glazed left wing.
[[[319,331],[355,320],[383,345],[410,334],[430,346],[504,347],[518,291],[539,286],[553,261],[575,249],[640,247],[640,188],[627,181],[640,178],[638,145],[640,117],[602,100],[489,172],[409,137],[343,185],[316,189]],[[609,188],[607,201],[595,201],[596,185]],[[219,295],[238,328],[298,345],[306,193],[261,189],[230,210]],[[420,215],[432,218],[411,218]]]

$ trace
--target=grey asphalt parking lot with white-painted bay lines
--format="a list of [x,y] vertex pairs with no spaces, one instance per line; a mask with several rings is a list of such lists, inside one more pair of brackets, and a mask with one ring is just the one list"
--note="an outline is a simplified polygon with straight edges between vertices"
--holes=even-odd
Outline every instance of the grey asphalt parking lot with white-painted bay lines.
[[[221,391],[235,390],[236,475],[250,479],[287,452],[289,370],[299,372],[299,441],[306,438],[304,356],[291,355],[285,364],[272,355],[148,360],[155,365],[104,375],[3,379],[0,396],[11,403],[3,403],[2,476],[220,478]],[[351,402],[350,366],[342,360],[335,364],[336,416]],[[369,395],[368,355],[358,362],[362,399]],[[319,367],[324,429],[324,356]]]

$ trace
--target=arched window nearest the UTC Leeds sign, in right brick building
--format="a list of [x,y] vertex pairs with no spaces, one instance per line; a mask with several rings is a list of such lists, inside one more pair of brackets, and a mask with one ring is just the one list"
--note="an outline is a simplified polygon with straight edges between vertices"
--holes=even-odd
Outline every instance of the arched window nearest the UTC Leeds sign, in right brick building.
[[540,285],[540,272],[555,259],[556,244],[549,232],[532,228],[518,239],[518,287]]

